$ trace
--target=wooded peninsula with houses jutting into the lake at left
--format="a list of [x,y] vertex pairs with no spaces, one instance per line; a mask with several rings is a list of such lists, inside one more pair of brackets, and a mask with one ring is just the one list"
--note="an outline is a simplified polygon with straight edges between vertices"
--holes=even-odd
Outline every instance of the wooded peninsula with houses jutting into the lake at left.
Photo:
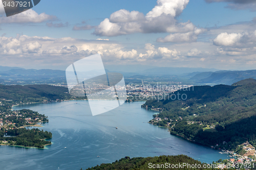
[[[0,99],[0,145],[43,149],[51,144],[44,139],[51,138],[52,133],[36,128],[41,127],[39,123],[49,122],[48,117],[29,109],[13,110],[13,102]],[[29,126],[35,128],[25,128]]]

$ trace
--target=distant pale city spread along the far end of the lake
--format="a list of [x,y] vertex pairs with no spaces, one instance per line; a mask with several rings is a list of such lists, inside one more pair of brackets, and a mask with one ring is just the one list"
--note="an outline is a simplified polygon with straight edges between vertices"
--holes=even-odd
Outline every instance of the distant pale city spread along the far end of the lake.
[[[59,85],[54,86],[67,87],[72,89],[71,93],[74,96],[83,96],[84,89],[80,86]],[[193,90],[193,85],[184,85],[181,82],[143,82],[139,84],[129,83],[127,85],[115,85],[110,88],[102,83],[91,83],[90,88],[87,88],[86,94],[88,100],[115,100],[116,90],[119,91],[118,97],[132,101],[150,100],[150,99],[164,99],[166,95],[173,93],[177,90],[190,88]],[[125,89],[126,88],[126,89]],[[126,91],[126,92],[125,92]],[[95,94],[97,92],[97,95]],[[126,96],[125,96],[126,95]]]

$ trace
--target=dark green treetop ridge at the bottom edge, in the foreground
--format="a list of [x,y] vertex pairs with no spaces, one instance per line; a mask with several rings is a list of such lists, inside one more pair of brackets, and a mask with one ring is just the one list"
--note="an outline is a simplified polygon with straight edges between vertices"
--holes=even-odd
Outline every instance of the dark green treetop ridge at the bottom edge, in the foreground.
[[[151,164],[152,163],[152,164]],[[166,167],[161,167],[162,165],[166,165],[165,163],[170,164],[170,168]],[[201,168],[172,168],[172,164],[182,164],[182,163],[187,163],[187,164],[197,164],[201,166]],[[153,164],[155,166],[159,166],[159,168],[153,168]],[[158,164],[158,165],[157,165]],[[152,166],[152,167],[151,167]],[[101,165],[97,165],[95,167],[88,168],[87,170],[114,170],[114,169],[125,169],[125,170],[139,170],[139,169],[207,169],[203,168],[203,164],[195,160],[193,158],[190,158],[186,155],[177,155],[177,156],[156,156],[156,157],[137,157],[137,158],[130,158],[130,157],[125,157],[120,160],[116,160],[113,163],[102,163]],[[209,168],[211,169],[211,168]]]

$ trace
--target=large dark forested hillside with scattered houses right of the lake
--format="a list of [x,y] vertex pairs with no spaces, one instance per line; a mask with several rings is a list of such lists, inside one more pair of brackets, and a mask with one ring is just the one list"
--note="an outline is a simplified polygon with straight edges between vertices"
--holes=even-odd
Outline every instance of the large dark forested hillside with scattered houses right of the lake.
[[[171,95],[186,95],[172,100]],[[183,95],[183,96],[184,96]],[[174,98],[173,98],[174,99]],[[183,98],[184,99],[184,98]],[[171,134],[221,149],[235,149],[248,141],[256,144],[256,81],[246,79],[232,86],[195,86],[169,94],[166,100],[150,100],[142,107],[162,112],[151,120],[168,126]],[[166,117],[166,118],[165,118]],[[162,119],[167,120],[162,120]],[[167,124],[169,123],[169,124]]]

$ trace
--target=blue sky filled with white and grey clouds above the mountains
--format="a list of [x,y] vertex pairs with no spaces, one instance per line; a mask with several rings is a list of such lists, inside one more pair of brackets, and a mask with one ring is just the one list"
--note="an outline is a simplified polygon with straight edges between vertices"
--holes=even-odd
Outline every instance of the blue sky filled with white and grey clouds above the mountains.
[[92,54],[105,65],[256,69],[256,1],[50,1],[6,17],[2,66],[63,69]]

